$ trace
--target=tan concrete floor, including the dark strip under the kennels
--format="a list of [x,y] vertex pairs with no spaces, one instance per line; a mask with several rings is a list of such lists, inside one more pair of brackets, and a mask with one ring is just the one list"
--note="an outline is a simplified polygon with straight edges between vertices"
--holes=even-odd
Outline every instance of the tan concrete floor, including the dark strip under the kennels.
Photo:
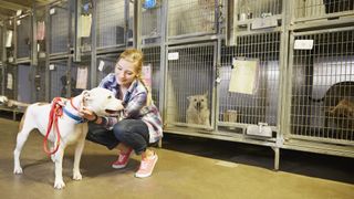
[[13,175],[12,150],[18,122],[0,116],[0,196],[10,198],[354,198],[352,158],[281,150],[281,169],[272,170],[268,147],[166,135],[155,172],[137,179],[138,157],[112,169],[116,151],[86,142],[82,181],[71,179],[73,147],[66,149],[66,187],[53,189],[53,164],[32,133],[22,153],[23,175]]

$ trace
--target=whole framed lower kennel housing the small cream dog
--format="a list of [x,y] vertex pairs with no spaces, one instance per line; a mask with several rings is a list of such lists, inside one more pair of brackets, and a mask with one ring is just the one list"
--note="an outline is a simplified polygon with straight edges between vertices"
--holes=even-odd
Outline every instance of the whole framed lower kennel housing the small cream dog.
[[[216,43],[168,46],[164,106],[164,125],[167,132],[190,130],[187,126],[200,130],[214,128],[216,48]],[[188,96],[202,94],[208,96],[210,125],[187,124]]]

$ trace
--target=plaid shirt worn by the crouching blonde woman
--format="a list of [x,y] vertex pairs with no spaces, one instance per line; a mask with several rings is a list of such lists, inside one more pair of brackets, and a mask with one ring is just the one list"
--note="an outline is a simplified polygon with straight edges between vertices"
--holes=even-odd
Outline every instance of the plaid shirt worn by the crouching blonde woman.
[[[112,91],[117,98],[121,98],[119,84],[115,80],[115,74],[111,73],[105,76],[98,87]],[[163,122],[157,107],[152,105],[146,106],[147,91],[143,83],[135,80],[131,87],[126,91],[123,97],[124,111],[121,119],[133,118],[142,119],[148,127],[149,143],[156,143],[163,137]],[[118,122],[116,117],[106,117],[105,127],[111,129]]]

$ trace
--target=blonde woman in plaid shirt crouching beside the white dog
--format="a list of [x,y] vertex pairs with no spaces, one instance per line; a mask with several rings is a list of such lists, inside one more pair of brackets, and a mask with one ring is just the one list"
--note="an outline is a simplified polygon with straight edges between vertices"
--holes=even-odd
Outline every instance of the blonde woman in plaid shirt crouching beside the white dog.
[[82,115],[88,119],[86,139],[119,150],[113,168],[126,167],[133,150],[142,156],[142,163],[135,177],[152,175],[157,155],[148,146],[163,137],[163,124],[157,107],[153,104],[148,88],[142,77],[143,53],[136,49],[124,51],[116,63],[115,72],[100,83],[100,87],[115,93],[123,101],[124,111],[116,117],[98,117],[88,109]]

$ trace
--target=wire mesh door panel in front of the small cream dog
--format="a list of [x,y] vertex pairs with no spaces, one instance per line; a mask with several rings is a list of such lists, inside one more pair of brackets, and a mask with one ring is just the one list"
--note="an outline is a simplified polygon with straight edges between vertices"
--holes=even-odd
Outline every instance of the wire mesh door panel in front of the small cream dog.
[[[189,96],[206,94],[202,101],[209,112],[209,116],[211,116],[214,48],[210,44],[200,44],[170,48],[168,50],[169,56],[178,54],[178,59],[168,60],[166,116],[169,125],[188,123],[186,114],[189,106]],[[194,106],[194,102],[191,102],[190,106]],[[210,126],[210,117],[208,123],[195,124]]]

